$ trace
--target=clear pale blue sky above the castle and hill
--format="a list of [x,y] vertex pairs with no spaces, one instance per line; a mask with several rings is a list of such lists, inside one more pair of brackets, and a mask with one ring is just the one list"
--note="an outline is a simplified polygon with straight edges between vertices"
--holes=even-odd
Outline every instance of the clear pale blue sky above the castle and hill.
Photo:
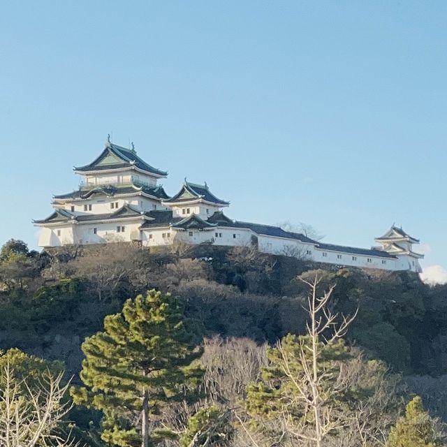
[[446,1],[0,4],[0,243],[107,134],[230,200],[369,247],[394,222],[447,268]]

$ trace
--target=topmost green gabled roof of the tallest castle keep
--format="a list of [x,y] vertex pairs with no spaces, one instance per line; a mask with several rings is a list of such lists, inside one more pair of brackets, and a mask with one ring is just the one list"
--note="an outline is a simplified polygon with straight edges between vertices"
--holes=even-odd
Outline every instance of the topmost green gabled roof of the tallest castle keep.
[[142,161],[135,149],[127,149],[126,147],[115,145],[110,142],[110,139],[105,143],[103,152],[94,161],[85,166],[75,167],[75,171],[88,173],[98,170],[131,168],[133,166],[155,177],[166,177],[168,175],[166,171],[154,168]]

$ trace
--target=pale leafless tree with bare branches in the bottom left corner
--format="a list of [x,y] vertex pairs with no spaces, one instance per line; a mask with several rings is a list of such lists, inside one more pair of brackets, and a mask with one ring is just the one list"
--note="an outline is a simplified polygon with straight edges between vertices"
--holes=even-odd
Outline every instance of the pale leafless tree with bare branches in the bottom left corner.
[[47,372],[33,386],[16,379],[9,364],[2,375],[0,446],[75,445],[69,434],[64,436],[59,430],[61,420],[71,409],[71,404],[64,402],[68,383],[62,385],[62,372],[57,376]]

